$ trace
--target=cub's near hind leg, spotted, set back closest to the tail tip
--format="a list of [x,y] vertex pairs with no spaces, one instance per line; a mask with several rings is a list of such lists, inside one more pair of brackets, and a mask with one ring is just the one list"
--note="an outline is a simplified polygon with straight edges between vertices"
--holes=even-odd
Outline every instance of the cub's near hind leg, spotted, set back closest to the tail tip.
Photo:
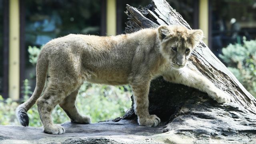
[[64,128],[52,122],[51,112],[57,104],[60,104],[70,92],[78,87],[76,80],[64,80],[51,78],[44,94],[38,99],[37,106],[40,119],[44,126],[44,132],[48,134],[63,134]]

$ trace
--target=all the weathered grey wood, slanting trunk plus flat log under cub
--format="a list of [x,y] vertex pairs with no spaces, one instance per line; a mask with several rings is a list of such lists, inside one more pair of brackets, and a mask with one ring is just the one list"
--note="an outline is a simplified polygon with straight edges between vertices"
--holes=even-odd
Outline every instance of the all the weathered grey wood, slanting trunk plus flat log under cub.
[[[126,33],[159,25],[188,23],[165,0],[153,0],[145,8],[127,5]],[[232,97],[218,104],[194,88],[165,82],[150,86],[150,114],[160,126],[138,126],[131,108],[122,118],[94,124],[62,124],[66,133],[44,134],[42,128],[0,126],[0,143],[256,143],[256,100],[234,75],[201,42],[192,52],[188,67],[211,80]],[[133,107],[133,104],[132,104]]]

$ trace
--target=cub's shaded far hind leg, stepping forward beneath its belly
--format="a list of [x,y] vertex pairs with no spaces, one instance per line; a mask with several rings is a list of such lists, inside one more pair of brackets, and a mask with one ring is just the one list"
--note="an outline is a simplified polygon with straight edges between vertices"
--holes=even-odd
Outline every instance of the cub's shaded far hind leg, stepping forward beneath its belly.
[[89,124],[91,119],[89,116],[82,116],[77,108],[76,108],[76,95],[78,94],[78,90],[72,92],[69,96],[64,98],[64,100],[60,103],[60,107],[66,112],[71,122],[78,124]]

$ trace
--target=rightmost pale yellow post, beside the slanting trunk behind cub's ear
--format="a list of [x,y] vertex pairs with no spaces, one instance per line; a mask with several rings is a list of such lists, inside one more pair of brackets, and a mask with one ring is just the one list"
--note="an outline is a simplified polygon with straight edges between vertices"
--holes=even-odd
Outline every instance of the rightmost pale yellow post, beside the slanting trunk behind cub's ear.
[[203,30],[204,43],[208,45],[209,38],[209,25],[208,25],[208,16],[209,16],[209,1],[208,0],[200,0],[199,1],[199,28]]

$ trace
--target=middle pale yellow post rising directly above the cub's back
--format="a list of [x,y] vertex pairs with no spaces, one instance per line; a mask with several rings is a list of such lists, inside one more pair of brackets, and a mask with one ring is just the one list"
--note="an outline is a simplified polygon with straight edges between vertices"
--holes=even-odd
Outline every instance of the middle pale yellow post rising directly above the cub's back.
[[107,35],[116,35],[116,0],[107,0]]

